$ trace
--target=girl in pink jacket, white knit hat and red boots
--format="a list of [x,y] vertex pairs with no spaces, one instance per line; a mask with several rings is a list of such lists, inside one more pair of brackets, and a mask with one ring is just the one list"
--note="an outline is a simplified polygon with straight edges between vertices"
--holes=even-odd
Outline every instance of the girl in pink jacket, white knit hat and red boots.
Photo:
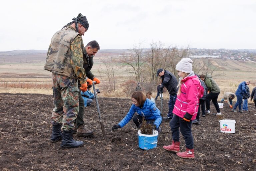
[[[194,141],[192,135],[192,120],[195,120],[199,99],[203,96],[204,88],[198,77],[192,71],[193,61],[190,58],[183,58],[176,65],[178,71],[179,85],[177,92],[177,99],[173,109],[173,118],[170,121],[172,130],[172,144],[163,146],[165,150],[177,153],[181,158],[195,158],[194,155]],[[180,132],[185,139],[186,151],[180,151]]]

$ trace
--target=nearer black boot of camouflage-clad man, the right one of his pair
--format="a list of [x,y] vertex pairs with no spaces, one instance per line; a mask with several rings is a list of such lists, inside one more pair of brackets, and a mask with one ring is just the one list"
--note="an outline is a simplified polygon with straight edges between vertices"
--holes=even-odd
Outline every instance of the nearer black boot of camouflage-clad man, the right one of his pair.
[[73,129],[63,130],[63,138],[60,146],[63,148],[76,148],[84,144],[83,141],[76,141],[73,139]]

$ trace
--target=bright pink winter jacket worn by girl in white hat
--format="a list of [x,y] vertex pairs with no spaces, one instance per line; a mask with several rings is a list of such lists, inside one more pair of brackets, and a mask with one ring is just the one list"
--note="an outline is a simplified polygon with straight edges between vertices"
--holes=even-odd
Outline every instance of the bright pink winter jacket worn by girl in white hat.
[[204,88],[196,75],[185,77],[181,81],[181,93],[177,96],[172,113],[183,118],[188,112],[192,115],[191,120],[195,120]]

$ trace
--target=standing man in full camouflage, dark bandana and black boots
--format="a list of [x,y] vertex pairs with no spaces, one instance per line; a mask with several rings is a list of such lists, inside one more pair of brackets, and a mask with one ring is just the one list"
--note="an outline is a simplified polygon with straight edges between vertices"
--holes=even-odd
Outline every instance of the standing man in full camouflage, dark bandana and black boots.
[[[52,112],[51,142],[62,139],[61,147],[74,148],[83,141],[73,139],[74,121],[79,110],[78,81],[82,91],[87,90],[87,77],[83,68],[82,35],[89,27],[85,16],[79,14],[51,40],[44,69],[52,72],[54,109]],[[63,133],[61,131],[63,130]]]

